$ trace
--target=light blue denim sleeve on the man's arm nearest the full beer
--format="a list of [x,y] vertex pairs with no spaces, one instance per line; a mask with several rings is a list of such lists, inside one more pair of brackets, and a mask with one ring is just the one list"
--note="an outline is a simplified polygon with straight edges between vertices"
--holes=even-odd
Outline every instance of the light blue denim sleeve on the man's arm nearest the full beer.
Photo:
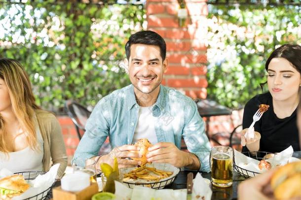
[[209,157],[211,145],[205,134],[204,121],[192,100],[186,107],[183,137],[188,151],[197,156],[200,161],[199,171],[210,172]]

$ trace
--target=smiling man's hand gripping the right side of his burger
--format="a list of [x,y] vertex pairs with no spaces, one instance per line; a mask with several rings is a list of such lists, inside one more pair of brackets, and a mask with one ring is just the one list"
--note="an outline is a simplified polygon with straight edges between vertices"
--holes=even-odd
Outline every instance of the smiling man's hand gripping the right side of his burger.
[[176,167],[189,166],[198,169],[200,164],[194,154],[179,150],[170,142],[159,142],[149,147],[148,162],[169,163]]

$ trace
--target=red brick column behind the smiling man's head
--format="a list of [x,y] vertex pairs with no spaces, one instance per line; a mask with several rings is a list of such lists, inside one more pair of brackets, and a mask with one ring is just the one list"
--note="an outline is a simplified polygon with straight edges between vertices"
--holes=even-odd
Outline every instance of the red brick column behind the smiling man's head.
[[185,0],[187,27],[178,25],[177,0],[147,0],[148,30],[160,34],[167,44],[169,68],[163,84],[191,98],[206,98],[206,0]]

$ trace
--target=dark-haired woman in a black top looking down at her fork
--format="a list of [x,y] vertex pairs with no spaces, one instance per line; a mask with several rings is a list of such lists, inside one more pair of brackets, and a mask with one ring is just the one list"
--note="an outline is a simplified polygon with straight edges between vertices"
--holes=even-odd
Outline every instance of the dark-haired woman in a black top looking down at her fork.
[[269,108],[254,125],[260,137],[257,134],[253,139],[250,134],[242,136],[242,143],[246,143],[242,151],[277,153],[291,145],[294,151],[300,151],[296,113],[301,86],[301,46],[280,46],[267,59],[265,70],[268,92],[256,95],[245,105],[242,134],[251,125],[260,104]]

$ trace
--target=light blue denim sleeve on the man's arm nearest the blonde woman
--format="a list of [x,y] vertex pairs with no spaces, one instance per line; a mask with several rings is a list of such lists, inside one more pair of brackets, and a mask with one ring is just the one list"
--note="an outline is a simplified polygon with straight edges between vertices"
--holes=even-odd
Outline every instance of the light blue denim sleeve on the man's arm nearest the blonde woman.
[[85,161],[98,155],[110,131],[107,112],[106,99],[103,98],[87,120],[85,133],[77,146],[73,160]]

